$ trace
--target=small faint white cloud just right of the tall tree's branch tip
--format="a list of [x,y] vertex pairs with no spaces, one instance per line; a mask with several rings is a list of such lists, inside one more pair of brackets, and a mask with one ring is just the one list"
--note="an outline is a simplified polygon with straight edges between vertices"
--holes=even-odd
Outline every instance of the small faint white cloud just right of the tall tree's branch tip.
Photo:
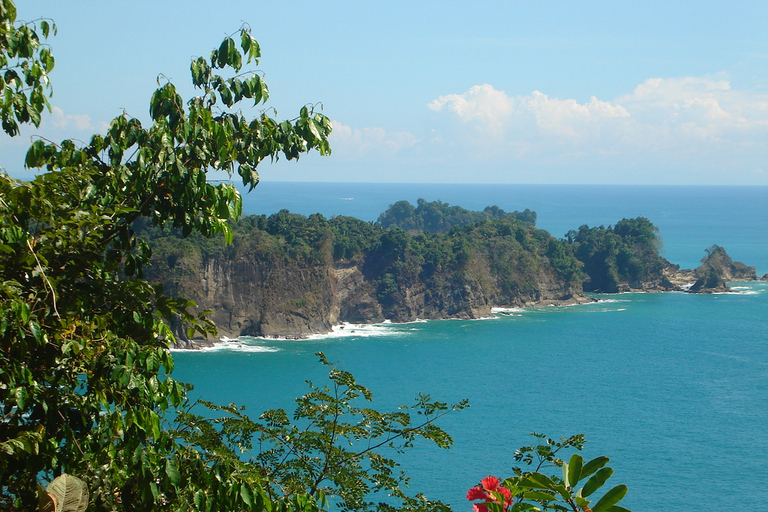
[[388,132],[383,128],[352,128],[333,121],[330,136],[334,155],[394,155],[416,145],[419,140],[410,132]]

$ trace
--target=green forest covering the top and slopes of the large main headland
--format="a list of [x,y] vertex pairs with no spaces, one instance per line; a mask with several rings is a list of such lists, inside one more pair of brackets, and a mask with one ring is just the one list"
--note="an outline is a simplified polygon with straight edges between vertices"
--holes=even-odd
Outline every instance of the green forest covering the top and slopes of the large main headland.
[[[470,212],[477,213],[477,212]],[[174,285],[174,272],[198,268],[197,261],[237,255],[260,260],[282,258],[300,266],[354,264],[375,288],[387,318],[403,318],[398,309],[408,290],[423,285],[434,297],[461,293],[466,283],[480,286],[499,303],[525,296],[536,300],[542,276],[580,290],[581,264],[564,240],[510,216],[453,227],[447,233],[409,233],[351,217],[325,219],[281,211],[269,217],[246,216],[232,223],[233,244],[210,244],[202,237],[147,233],[158,268],[151,275]],[[196,256],[195,256],[196,255]],[[187,262],[175,269],[179,259]],[[168,263],[167,270],[165,263]],[[457,313],[456,310],[446,311]]]

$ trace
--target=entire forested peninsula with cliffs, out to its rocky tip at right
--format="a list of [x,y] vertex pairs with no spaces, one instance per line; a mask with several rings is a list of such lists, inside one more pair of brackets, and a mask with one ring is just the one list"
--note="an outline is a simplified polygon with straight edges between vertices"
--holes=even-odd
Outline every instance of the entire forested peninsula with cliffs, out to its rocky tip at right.
[[[140,226],[147,277],[210,310],[219,336],[304,338],[343,323],[482,318],[494,308],[589,302],[585,292],[713,292],[756,279],[718,246],[696,270],[664,259],[646,218],[557,239],[536,213],[420,199],[376,222],[282,210],[232,222],[233,242]],[[183,328],[175,330],[185,339]],[[196,342],[199,342],[197,340]],[[184,346],[195,346],[187,340]]]

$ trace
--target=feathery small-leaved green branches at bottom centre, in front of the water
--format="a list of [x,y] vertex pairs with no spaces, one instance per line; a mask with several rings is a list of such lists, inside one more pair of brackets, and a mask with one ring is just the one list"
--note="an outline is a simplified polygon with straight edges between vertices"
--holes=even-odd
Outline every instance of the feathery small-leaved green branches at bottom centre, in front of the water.
[[[451,411],[468,407],[466,400],[448,405],[419,395],[412,407],[379,412],[360,407],[360,399],[371,401],[372,394],[352,374],[334,367],[320,352],[320,362],[330,368],[327,386],[311,382],[310,392],[296,399],[292,419],[283,409],[264,412],[254,422],[234,405],[216,406],[201,402],[223,416],[205,419],[189,411],[179,417],[178,432],[186,442],[216,442],[221,433],[226,442],[220,447],[228,454],[256,449],[254,459],[270,499],[309,495],[319,503],[329,501],[342,510],[449,510],[441,502],[423,495],[409,497],[398,464],[382,454],[396,453],[413,446],[417,438],[449,448],[453,440],[435,421]],[[412,414],[416,411],[416,415]],[[254,443],[256,446],[254,446]],[[392,499],[374,503],[372,494],[386,492]],[[394,502],[400,505],[395,507]]]

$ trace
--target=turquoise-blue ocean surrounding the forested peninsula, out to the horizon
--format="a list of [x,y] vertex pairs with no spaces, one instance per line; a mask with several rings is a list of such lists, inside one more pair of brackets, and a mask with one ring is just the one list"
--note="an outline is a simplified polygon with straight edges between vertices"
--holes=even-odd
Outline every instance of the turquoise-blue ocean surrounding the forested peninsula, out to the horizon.
[[[530,208],[557,237],[582,224],[644,216],[664,256],[699,264],[718,244],[768,272],[768,187],[263,183],[245,213],[280,209],[373,221],[389,204],[418,198],[468,209]],[[600,302],[532,308],[475,321],[346,326],[303,341],[244,339],[175,352],[175,377],[193,398],[237,402],[253,417],[293,409],[304,383],[323,382],[314,355],[352,372],[394,409],[419,392],[469,409],[440,426],[450,450],[416,443],[395,455],[411,490],[471,510],[469,487],[511,475],[530,432],[583,433],[583,455],[611,457],[609,481],[629,487],[622,505],[698,511],[768,505],[768,283],[738,293],[596,295]],[[236,383],[236,384],[233,384]]]

